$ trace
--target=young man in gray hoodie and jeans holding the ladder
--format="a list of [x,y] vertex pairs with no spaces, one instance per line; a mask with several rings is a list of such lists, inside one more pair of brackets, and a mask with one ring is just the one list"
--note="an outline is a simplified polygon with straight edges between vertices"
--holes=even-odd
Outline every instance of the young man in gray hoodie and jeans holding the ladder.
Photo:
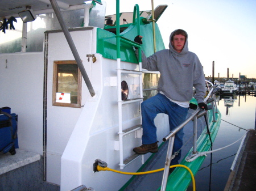
[[[142,44],[142,36],[134,41]],[[138,49],[135,51],[138,56]],[[205,96],[205,79],[203,66],[195,53],[188,51],[188,34],[182,29],[171,33],[169,49],[160,50],[150,57],[142,51],[142,68],[149,71],[159,71],[158,94],[142,102],[142,146],[135,147],[137,154],[158,152],[158,140],[154,118],[158,113],[169,116],[170,131],[185,121],[189,101],[196,88],[195,99],[199,107],[207,110],[203,102]],[[183,145],[183,129],[175,135],[173,153]],[[177,164],[180,155],[172,160]]]

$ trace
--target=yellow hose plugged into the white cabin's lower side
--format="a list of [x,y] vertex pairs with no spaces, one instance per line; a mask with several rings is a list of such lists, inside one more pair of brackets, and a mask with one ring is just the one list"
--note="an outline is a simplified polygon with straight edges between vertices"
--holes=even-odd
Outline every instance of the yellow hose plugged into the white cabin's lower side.
[[[189,169],[187,166],[182,165],[182,164],[176,164],[176,165],[170,166],[170,168],[175,168],[175,167],[183,167],[188,170],[188,172],[190,173],[191,178],[192,178],[193,191],[196,191],[196,182],[195,182],[195,178],[194,178],[194,175],[193,175],[191,169]],[[97,165],[97,170],[98,171],[112,171],[112,172],[121,173],[123,175],[145,175],[145,174],[149,174],[149,173],[163,171],[164,168],[156,169],[154,171],[147,171],[147,172],[122,172],[122,171],[116,171],[116,170],[108,168],[108,167],[100,167],[99,165]]]

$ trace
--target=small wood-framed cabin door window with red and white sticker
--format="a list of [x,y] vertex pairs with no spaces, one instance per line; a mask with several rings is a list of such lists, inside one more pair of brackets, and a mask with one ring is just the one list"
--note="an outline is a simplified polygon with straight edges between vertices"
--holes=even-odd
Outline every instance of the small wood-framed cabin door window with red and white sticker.
[[80,108],[81,82],[76,61],[54,61],[52,105]]

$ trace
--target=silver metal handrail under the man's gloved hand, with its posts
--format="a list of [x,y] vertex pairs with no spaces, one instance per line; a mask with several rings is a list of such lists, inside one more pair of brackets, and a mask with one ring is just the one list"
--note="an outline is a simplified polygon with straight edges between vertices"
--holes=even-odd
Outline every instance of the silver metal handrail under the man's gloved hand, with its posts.
[[[209,82],[208,80],[205,80],[205,82],[210,83],[212,85],[212,87],[210,88],[209,94],[207,95],[207,97],[205,97],[204,99],[204,103],[207,103],[207,100],[212,97],[212,92],[214,90],[214,86],[212,82]],[[209,87],[209,86],[208,86]],[[209,90],[209,89],[208,89]],[[215,99],[215,96],[213,96],[213,98]],[[213,101],[212,104],[215,104],[215,102]],[[212,107],[214,108],[214,107]],[[179,126],[177,126],[174,130],[170,131],[170,133],[168,133],[166,135],[166,137],[163,138],[163,141],[167,141],[169,140],[168,143],[168,148],[167,148],[167,155],[166,155],[166,163],[164,166],[164,173],[163,173],[163,180],[162,180],[162,186],[161,186],[161,191],[166,190],[166,185],[167,185],[167,179],[168,179],[168,175],[169,175],[169,169],[170,169],[170,165],[171,165],[171,156],[172,156],[172,150],[173,150],[173,146],[174,146],[174,138],[175,138],[175,134],[182,128],[184,128],[185,125],[188,124],[189,121],[193,120],[193,125],[194,125],[194,139],[193,139],[193,152],[196,152],[196,139],[197,139],[197,114],[201,111],[201,108],[197,108],[195,112],[193,112],[191,114],[191,116],[189,116],[182,124],[180,124]],[[205,112],[205,114],[207,114],[207,112]]]

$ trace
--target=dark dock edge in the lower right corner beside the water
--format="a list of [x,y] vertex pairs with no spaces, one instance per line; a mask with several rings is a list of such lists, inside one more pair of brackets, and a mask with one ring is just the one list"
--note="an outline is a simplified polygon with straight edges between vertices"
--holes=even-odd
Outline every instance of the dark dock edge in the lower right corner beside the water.
[[253,191],[256,188],[256,130],[250,129],[241,142],[224,191]]

